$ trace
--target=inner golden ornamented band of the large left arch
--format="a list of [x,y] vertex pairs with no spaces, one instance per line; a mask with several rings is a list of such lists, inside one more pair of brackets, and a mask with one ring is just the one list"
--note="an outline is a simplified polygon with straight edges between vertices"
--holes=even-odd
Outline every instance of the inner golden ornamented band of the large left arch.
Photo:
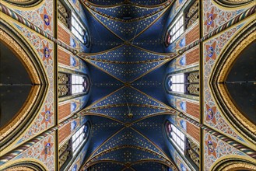
[[[5,31],[3,30],[0,30],[0,37],[2,43],[8,46],[16,54],[16,57],[19,58],[20,61],[22,61],[23,65],[26,68],[26,71],[30,75],[31,81],[34,84],[40,85],[41,82],[37,70],[34,67],[33,62],[30,61],[30,58],[28,57],[26,52],[23,51],[23,48],[20,47],[20,45],[15,40],[13,40],[13,38],[8,33],[5,33]],[[7,124],[5,127],[2,127],[2,129],[0,130],[0,141],[2,141],[5,137],[11,134],[12,131],[14,131],[16,127],[18,127],[19,124],[23,122],[26,115],[30,112],[30,109],[32,108],[34,102],[36,101],[39,92],[40,86],[33,86],[31,88],[30,94],[26,99],[26,103],[16,114],[16,117],[13,120],[11,120],[9,124]]]

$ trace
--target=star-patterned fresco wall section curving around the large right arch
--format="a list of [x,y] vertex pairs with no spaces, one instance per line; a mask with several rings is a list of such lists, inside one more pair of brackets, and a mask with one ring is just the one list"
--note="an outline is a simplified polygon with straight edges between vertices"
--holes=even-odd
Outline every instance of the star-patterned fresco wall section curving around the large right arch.
[[216,102],[214,101],[209,89],[209,76],[219,54],[221,54],[221,51],[228,43],[228,40],[230,40],[242,26],[244,26],[244,23],[234,26],[230,30],[226,30],[217,37],[205,41],[204,43],[204,121],[205,124],[222,131],[224,134],[228,134],[233,138],[237,138],[239,141],[247,143],[244,141],[244,138],[241,138],[240,135],[233,130],[231,125],[226,122],[223,114],[216,107]]

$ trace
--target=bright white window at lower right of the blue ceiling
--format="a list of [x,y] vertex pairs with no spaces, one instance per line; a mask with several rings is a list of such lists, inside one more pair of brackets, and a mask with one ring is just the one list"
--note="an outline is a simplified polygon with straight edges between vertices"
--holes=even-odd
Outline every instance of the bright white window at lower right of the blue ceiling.
[[171,137],[170,141],[174,143],[174,145],[179,149],[179,151],[184,155],[185,152],[185,135],[174,126],[174,124],[170,124],[171,127]]

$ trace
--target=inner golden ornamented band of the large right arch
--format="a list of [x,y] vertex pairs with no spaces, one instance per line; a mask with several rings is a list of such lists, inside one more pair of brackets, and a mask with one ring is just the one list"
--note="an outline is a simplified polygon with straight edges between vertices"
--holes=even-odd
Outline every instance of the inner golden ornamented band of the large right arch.
[[[239,54],[255,40],[255,37],[256,31],[248,35],[244,40],[242,40],[240,44],[238,44],[238,46],[230,54],[230,57],[227,58],[225,64],[223,65],[223,69],[219,73],[219,78],[217,79],[217,82],[225,82],[226,77],[229,74],[230,69],[232,68],[232,65],[238,58]],[[233,113],[233,116],[237,117],[237,120],[240,120],[240,123],[243,124],[244,127],[247,127],[247,129],[256,134],[256,126],[253,123],[251,123],[250,120],[247,120],[247,118],[244,117],[244,114],[237,109],[237,106],[233,103],[233,100],[230,97],[229,92],[226,89],[226,86],[224,84],[217,84],[217,87],[219,89],[220,95],[223,97],[224,102]]]

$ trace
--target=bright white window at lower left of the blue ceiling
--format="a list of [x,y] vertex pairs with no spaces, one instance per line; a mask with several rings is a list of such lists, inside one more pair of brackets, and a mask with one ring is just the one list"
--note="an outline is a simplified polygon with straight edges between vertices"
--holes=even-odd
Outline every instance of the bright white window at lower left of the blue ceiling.
[[79,130],[72,135],[73,156],[76,152],[78,152],[78,149],[82,146],[83,142],[86,141],[86,133],[84,131],[85,127],[85,125],[82,125],[82,127],[80,127]]

